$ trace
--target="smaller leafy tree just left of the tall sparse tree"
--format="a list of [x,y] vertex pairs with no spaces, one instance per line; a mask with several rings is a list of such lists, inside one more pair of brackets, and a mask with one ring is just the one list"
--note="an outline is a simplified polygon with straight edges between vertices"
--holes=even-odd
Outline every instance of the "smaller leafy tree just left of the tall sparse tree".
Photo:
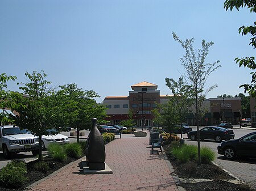
[[180,124],[182,138],[182,123],[190,112],[192,105],[192,99],[190,98],[192,97],[192,87],[184,82],[183,77],[180,77],[177,82],[172,78],[166,78],[166,86],[170,88],[173,94],[170,101],[174,107],[174,114],[179,121],[178,124]]

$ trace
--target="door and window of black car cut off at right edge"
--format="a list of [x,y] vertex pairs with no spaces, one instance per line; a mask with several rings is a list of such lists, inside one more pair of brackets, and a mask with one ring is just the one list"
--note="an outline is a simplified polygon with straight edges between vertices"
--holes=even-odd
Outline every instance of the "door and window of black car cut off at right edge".
[[256,156],[256,133],[240,139],[237,144],[237,155]]

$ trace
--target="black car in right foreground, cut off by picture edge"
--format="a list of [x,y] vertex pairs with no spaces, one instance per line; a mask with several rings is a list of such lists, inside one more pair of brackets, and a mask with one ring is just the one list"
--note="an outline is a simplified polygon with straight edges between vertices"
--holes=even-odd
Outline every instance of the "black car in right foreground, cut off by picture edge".
[[218,154],[224,155],[228,159],[236,156],[256,157],[256,131],[244,135],[239,139],[222,142],[217,147]]

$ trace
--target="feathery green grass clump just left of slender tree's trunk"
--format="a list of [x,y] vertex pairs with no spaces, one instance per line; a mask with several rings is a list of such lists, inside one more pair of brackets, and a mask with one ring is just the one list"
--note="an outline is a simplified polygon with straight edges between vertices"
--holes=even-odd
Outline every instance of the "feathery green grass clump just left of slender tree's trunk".
[[183,145],[181,147],[172,148],[172,154],[181,163],[186,163],[189,160],[195,160],[197,154],[197,147],[194,145]]

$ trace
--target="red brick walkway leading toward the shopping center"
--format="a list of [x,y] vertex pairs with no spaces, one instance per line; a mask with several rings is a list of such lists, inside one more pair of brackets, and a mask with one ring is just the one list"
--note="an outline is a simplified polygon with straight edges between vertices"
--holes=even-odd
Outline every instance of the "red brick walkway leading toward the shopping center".
[[28,190],[172,190],[177,191],[165,154],[151,154],[149,137],[115,139],[106,145],[109,175],[84,175],[80,160],[31,185]]

